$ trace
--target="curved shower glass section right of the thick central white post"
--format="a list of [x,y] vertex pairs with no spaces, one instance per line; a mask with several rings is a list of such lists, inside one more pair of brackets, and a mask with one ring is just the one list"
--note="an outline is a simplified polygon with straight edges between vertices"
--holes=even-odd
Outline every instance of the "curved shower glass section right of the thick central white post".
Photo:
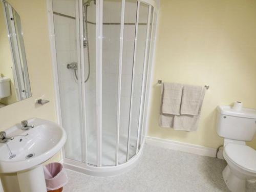
[[104,0],[102,10],[99,155],[102,166],[110,166],[139,150],[153,8],[137,0]]

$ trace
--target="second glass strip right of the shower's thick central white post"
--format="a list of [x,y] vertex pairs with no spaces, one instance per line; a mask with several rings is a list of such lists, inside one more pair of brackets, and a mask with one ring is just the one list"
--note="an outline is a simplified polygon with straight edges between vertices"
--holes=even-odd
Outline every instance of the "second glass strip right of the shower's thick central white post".
[[124,11],[118,164],[126,162],[127,154],[136,13],[137,0],[126,0]]

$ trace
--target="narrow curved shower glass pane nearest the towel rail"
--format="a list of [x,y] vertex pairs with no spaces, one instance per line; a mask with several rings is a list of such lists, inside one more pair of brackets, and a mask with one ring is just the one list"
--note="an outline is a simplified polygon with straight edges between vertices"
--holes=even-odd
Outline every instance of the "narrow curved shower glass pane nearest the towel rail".
[[140,134],[139,121],[141,121],[140,108],[143,106],[141,102],[143,98],[142,90],[144,90],[145,70],[147,69],[147,60],[145,56],[148,54],[147,35],[150,24],[150,6],[144,3],[138,3],[139,13],[136,20],[135,31],[135,50],[132,71],[132,92],[130,104],[130,121],[129,121],[129,147],[127,152],[127,160],[131,159],[138,152],[137,141]]

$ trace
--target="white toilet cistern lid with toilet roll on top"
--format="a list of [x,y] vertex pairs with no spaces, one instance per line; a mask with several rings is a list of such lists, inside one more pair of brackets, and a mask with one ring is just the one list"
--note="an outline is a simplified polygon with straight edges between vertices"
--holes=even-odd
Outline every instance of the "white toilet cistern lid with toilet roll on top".
[[256,119],[255,109],[242,108],[241,111],[237,111],[237,110],[233,110],[232,107],[228,105],[220,105],[218,106],[217,109],[222,115]]

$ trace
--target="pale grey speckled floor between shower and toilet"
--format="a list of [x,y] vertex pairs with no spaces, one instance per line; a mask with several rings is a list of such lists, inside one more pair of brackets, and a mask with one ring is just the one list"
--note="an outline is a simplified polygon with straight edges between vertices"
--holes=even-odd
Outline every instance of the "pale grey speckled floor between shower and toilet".
[[[114,177],[93,177],[67,170],[65,192],[91,191],[229,191],[222,178],[221,159],[168,150],[146,144],[138,165]],[[247,184],[247,192],[256,184]]]

